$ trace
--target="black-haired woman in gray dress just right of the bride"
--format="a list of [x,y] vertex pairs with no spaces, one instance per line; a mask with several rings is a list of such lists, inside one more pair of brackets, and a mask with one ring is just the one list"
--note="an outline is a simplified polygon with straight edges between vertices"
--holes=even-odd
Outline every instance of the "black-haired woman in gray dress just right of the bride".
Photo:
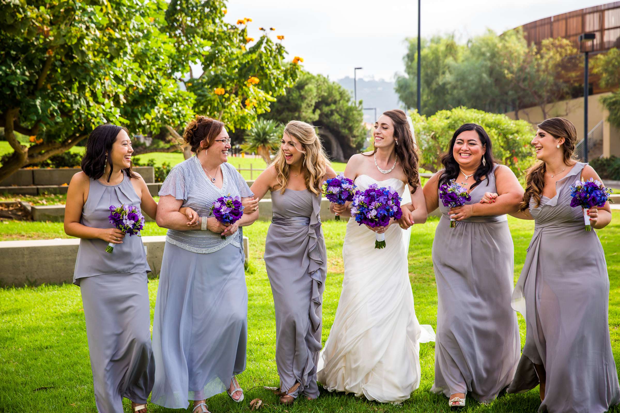
[[[510,308],[514,250],[506,214],[516,211],[523,189],[510,168],[495,163],[489,136],[474,123],[454,132],[441,163],[444,169],[423,189],[427,211],[441,211],[433,240],[438,305],[432,391],[448,396],[450,407],[463,407],[466,393],[491,401],[515,374],[521,346]],[[438,189],[450,180],[467,188],[471,201],[443,206]],[[484,204],[485,191],[499,195]]]

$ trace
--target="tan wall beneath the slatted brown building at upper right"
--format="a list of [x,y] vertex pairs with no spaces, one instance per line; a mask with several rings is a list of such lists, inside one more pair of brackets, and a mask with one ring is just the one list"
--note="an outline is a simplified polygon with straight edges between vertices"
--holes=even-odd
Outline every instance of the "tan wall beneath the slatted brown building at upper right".
[[[604,157],[609,155],[620,156],[620,130],[614,128],[607,121],[608,111],[603,107],[600,98],[611,94],[597,93],[588,97],[588,130],[593,129],[601,120],[603,121],[603,147],[602,154]],[[570,100],[562,100],[556,103],[546,105],[547,118],[559,116],[571,121],[577,128],[577,140],[583,139],[583,98]],[[506,113],[509,118],[517,119],[515,112]],[[544,116],[540,107],[531,107],[521,109],[518,113],[518,119],[526,120],[536,127],[536,124],[544,120]]]

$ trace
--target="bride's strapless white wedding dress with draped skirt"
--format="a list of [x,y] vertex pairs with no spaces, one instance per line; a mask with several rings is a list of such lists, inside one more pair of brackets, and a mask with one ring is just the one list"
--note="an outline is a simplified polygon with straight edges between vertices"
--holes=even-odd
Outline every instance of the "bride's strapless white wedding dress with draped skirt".
[[[391,186],[403,197],[402,204],[410,202],[397,178],[355,179],[361,191],[372,183]],[[317,378],[325,389],[402,402],[420,385],[419,344],[435,341],[435,333],[415,316],[407,266],[410,235],[411,228],[392,224],[385,232],[386,247],[378,250],[375,233],[349,219],[342,246],[342,292],[319,357]]]

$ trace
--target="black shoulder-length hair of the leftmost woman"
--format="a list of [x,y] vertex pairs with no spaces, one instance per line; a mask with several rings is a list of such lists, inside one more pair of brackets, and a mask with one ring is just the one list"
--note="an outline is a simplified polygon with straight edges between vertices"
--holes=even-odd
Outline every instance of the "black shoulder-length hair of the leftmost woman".
[[[110,165],[107,181],[110,182],[114,168],[112,167],[112,157],[109,155],[120,131],[125,131],[129,134],[126,128],[111,123],[100,124],[93,129],[86,142],[86,153],[82,157],[82,171],[86,173],[86,176],[98,180],[104,175],[107,163]],[[129,168],[123,169],[123,171],[130,178],[138,178],[138,175],[133,173],[131,165]]]

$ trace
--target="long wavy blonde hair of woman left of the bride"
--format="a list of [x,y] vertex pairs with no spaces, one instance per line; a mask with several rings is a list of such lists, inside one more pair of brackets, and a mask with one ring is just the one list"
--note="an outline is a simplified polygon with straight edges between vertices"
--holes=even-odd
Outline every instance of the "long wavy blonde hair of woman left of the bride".
[[[284,133],[294,137],[301,144],[302,149],[299,149],[299,152],[305,155],[302,170],[306,172],[304,173],[306,176],[306,188],[314,195],[319,196],[322,193],[322,181],[327,172],[329,160],[321,145],[321,139],[314,131],[314,126],[302,121],[290,121],[286,124]],[[286,186],[288,186],[290,167],[286,163],[281,147],[275,155],[273,165],[277,173],[278,185],[281,187],[280,193],[283,194]]]

